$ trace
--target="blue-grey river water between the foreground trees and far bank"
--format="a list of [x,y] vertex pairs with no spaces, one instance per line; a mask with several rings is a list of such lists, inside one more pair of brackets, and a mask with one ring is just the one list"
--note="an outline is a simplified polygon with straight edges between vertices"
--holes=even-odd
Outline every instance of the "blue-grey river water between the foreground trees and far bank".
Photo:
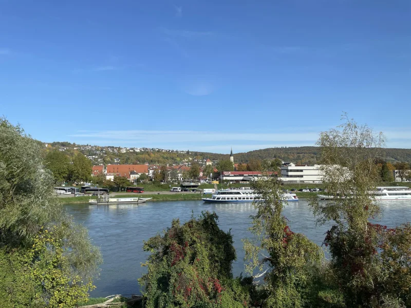
[[[395,227],[411,221],[409,201],[380,202],[382,224]],[[251,203],[214,204],[202,201],[147,202],[140,205],[89,205],[88,203],[67,204],[66,211],[89,230],[93,242],[100,247],[104,263],[101,275],[95,281],[96,290],[92,297],[111,294],[140,294],[137,278],[145,273],[148,253],[142,251],[143,240],[148,240],[171,225],[173,218],[183,223],[201,211],[215,211],[219,226],[226,232],[231,229],[237,260],[233,274],[238,276],[244,270],[244,251],[241,239],[250,237],[247,228],[251,226],[250,215],[255,214]],[[284,215],[290,220],[293,232],[305,234],[321,245],[329,225],[315,226],[315,219],[304,200],[285,205]]]

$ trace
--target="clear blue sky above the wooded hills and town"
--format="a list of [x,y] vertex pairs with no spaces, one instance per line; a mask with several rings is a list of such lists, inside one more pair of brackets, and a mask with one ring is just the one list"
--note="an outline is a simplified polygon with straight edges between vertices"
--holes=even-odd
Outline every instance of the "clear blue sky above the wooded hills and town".
[[313,145],[343,111],[411,147],[411,2],[0,0],[0,114],[34,138]]

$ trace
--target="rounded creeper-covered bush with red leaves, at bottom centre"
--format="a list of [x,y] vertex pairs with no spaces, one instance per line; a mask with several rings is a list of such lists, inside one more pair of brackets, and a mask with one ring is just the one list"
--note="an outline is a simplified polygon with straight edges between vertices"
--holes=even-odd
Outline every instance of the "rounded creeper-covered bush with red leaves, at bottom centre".
[[152,253],[144,264],[148,272],[139,279],[146,307],[249,305],[251,281],[232,278],[233,239],[217,220],[208,212],[183,225],[175,219],[164,235],[144,243]]

